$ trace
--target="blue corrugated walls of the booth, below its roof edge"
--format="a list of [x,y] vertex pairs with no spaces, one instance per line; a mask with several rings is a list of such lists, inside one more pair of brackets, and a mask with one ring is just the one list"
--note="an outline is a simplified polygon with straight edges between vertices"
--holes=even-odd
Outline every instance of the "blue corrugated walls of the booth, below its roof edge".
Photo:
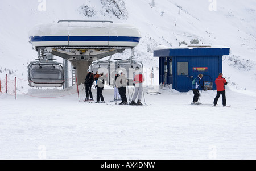
[[[203,81],[213,82],[213,90],[216,90],[214,80],[218,77],[218,73],[222,72],[222,56],[173,56],[167,57],[167,60],[166,57],[159,57],[159,84],[163,84],[165,78],[164,62],[167,62],[170,58],[172,58],[173,64],[173,77],[166,77],[166,84],[172,84],[173,89],[180,92],[192,90],[193,78],[196,78],[201,73],[205,75]],[[188,62],[187,76],[178,76],[178,62]],[[207,71],[193,71],[193,68],[207,68]]]

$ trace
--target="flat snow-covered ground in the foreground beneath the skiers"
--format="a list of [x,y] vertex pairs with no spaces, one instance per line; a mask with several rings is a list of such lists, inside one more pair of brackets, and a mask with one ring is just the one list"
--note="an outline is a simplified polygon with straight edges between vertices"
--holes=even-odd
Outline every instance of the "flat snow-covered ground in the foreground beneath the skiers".
[[[113,92],[106,87],[106,101]],[[144,93],[143,106],[2,94],[0,159],[256,159],[255,92],[228,89],[226,108],[221,99],[188,105],[192,91],[160,92]],[[215,95],[203,91],[200,101]]]

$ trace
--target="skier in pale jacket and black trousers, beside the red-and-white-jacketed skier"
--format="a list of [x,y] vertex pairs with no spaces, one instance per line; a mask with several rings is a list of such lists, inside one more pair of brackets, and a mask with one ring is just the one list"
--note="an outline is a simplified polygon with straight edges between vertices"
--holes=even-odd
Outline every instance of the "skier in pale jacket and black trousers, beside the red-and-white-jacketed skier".
[[118,91],[122,99],[122,102],[119,103],[119,105],[128,105],[127,97],[126,97],[127,78],[125,74],[123,74],[122,70],[120,70],[118,73],[119,73],[119,76],[117,77],[115,84],[118,87]]

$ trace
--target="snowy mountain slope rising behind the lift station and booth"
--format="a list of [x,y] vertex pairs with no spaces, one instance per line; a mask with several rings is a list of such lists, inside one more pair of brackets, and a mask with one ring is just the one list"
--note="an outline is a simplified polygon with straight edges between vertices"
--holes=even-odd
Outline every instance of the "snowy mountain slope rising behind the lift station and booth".
[[135,57],[146,67],[158,65],[158,58],[152,55],[158,45],[175,47],[181,41],[190,44],[191,39],[199,39],[200,44],[230,47],[230,56],[224,57],[224,75],[237,89],[251,89],[250,85],[256,82],[255,9],[254,0],[2,0],[0,76],[10,73],[26,78],[28,62],[36,58],[28,42],[28,31],[35,24],[57,20],[113,20],[134,24],[141,30],[142,39],[135,48]]

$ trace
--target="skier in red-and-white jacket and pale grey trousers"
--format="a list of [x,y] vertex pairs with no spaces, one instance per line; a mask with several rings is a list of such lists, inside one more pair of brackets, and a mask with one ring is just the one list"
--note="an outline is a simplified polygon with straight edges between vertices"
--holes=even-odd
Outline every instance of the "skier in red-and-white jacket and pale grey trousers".
[[[135,68],[133,82],[135,83],[134,95],[133,95],[133,98],[129,105],[142,105],[141,98],[142,98],[142,92],[143,92],[142,86],[143,86],[143,82],[144,82],[144,77],[143,77],[141,70],[138,67]],[[136,103],[135,99],[137,98],[137,96],[138,96],[138,99],[137,99],[137,103]]]

